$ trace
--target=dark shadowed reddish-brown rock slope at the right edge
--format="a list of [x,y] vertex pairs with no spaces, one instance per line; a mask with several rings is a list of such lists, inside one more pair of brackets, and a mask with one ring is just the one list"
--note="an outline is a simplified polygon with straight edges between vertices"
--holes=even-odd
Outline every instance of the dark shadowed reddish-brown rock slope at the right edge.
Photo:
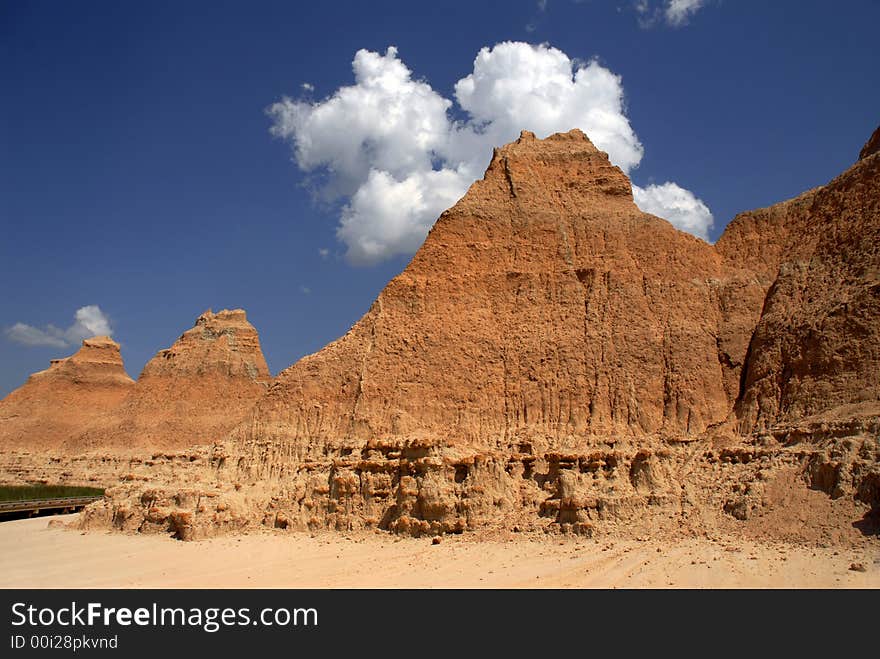
[[[814,191],[799,214],[749,349],[744,433],[880,413],[880,154]],[[873,146],[872,146],[873,145]]]

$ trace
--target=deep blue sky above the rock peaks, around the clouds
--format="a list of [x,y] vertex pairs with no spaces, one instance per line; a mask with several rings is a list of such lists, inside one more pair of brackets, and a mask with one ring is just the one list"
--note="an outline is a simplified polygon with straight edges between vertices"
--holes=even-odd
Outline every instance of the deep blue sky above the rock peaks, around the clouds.
[[[0,395],[102,322],[134,377],[209,307],[247,309],[273,372],[343,334],[405,267],[424,222],[358,264],[363,232],[346,242],[337,226],[366,182],[322,177],[338,162],[320,151],[351,144],[313,140],[311,171],[295,151],[320,129],[303,117],[355,84],[361,49],[405,66],[407,89],[448,100],[459,127],[473,117],[456,83],[482,48],[532,44],[520,54],[562,53],[573,72],[593,61],[619,76],[619,116],[642,149],[634,183],[674,181],[702,200],[710,240],[737,212],[855,160],[880,120],[880,3],[676,2],[692,11],[673,20],[668,0],[0,1]],[[298,124],[267,114],[284,96]],[[512,117],[504,130],[540,120]],[[399,135],[381,148],[397,153]],[[479,153],[439,165],[429,154],[457,168],[447,194]]]

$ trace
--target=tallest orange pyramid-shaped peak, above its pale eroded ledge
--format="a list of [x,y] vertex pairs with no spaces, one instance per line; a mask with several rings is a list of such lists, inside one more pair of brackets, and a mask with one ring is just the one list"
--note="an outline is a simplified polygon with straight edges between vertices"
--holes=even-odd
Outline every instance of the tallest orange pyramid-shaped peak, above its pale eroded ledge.
[[302,459],[394,437],[561,448],[700,433],[732,403],[719,271],[711,245],[636,207],[583,133],[524,133],[348,334],[279,375],[239,436]]

